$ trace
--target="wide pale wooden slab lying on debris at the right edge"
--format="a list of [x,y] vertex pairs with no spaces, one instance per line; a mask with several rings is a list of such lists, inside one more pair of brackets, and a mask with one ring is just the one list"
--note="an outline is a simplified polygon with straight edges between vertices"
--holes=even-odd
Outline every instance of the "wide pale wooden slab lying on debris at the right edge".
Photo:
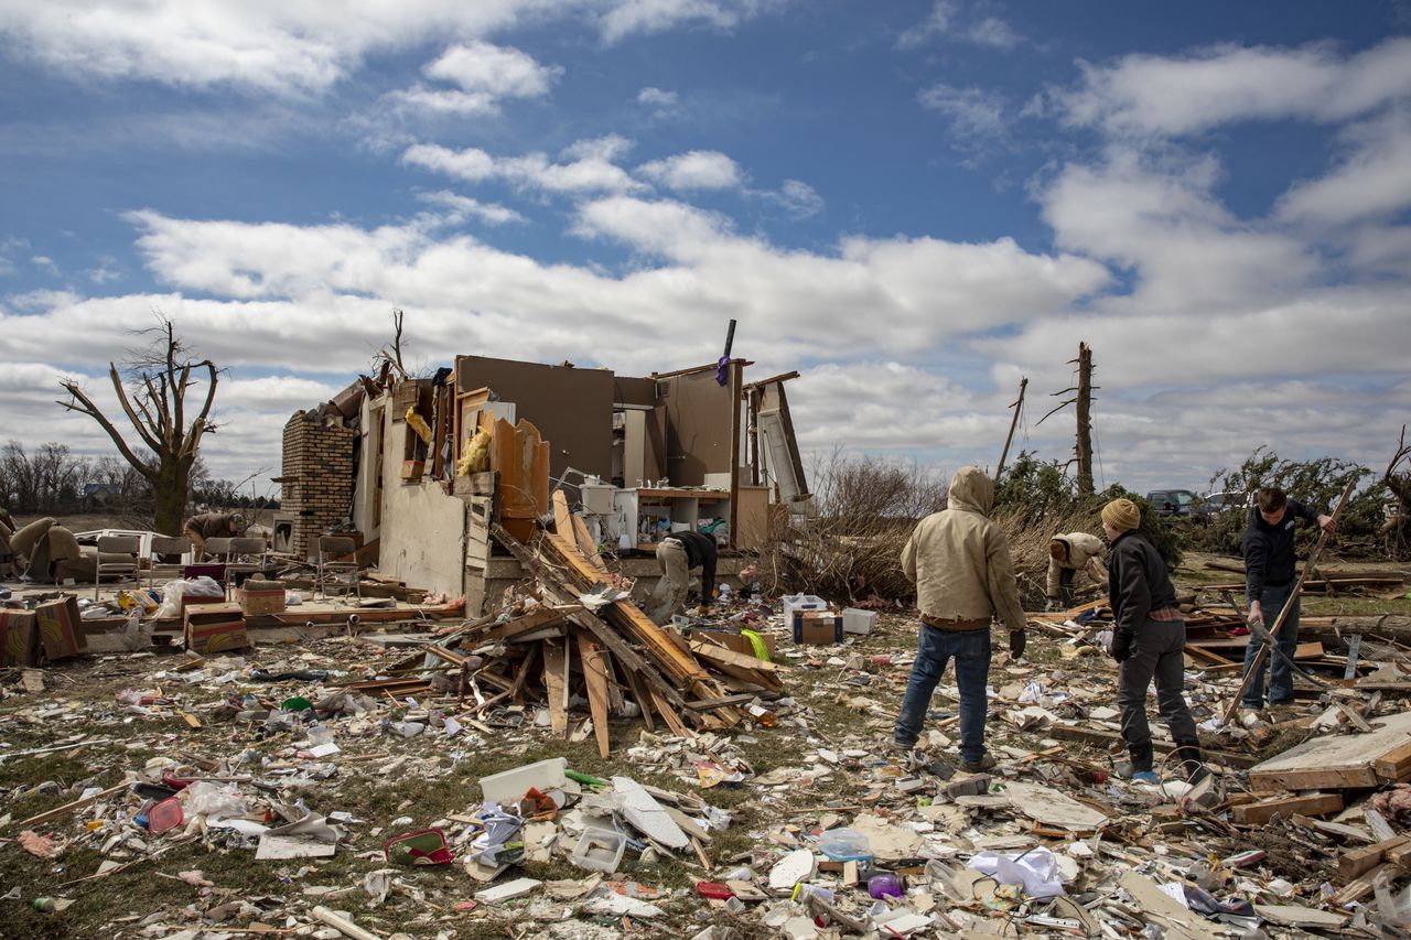
[[1311,738],[1249,771],[1256,793],[1376,786],[1376,762],[1411,742],[1411,711],[1377,718],[1370,734]]

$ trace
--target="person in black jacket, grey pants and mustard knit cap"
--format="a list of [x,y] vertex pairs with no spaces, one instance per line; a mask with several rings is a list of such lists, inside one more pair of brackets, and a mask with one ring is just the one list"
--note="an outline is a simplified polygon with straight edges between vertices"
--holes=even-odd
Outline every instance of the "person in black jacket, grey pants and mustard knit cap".
[[1122,740],[1132,757],[1132,779],[1157,783],[1151,771],[1151,727],[1146,696],[1156,679],[1157,707],[1171,728],[1175,759],[1189,778],[1201,769],[1195,720],[1181,694],[1185,685],[1185,618],[1165,563],[1137,534],[1141,511],[1132,500],[1102,507],[1102,531],[1112,542],[1108,559],[1108,598],[1115,620],[1112,658],[1118,661],[1118,707]]

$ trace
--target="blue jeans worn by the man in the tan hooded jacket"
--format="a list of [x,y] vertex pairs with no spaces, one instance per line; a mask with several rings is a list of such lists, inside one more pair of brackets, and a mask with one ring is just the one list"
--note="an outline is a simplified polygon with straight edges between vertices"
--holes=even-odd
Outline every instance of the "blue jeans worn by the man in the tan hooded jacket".
[[961,690],[961,761],[976,764],[985,757],[985,714],[989,701],[985,685],[989,682],[989,629],[935,629],[921,624],[916,639],[916,662],[906,682],[902,713],[892,731],[897,744],[912,745],[921,737],[931,693],[945,672],[945,663],[955,658],[955,685]]

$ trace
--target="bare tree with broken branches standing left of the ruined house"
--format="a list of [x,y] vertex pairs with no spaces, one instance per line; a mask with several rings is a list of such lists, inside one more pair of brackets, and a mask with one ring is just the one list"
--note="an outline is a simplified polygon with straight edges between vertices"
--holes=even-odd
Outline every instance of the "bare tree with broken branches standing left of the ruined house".
[[[107,368],[123,414],[137,432],[134,443],[128,443],[124,432],[117,429],[76,381],[59,382],[69,394],[69,401],[58,404],[87,415],[107,432],[123,459],[152,487],[154,526],[159,532],[175,535],[181,532],[186,515],[190,469],[196,462],[200,439],[216,430],[216,425],[210,422],[210,406],[216,401],[217,368],[209,358],[195,361],[166,318],[145,333],[152,335],[154,342],[124,364],[126,382],[116,364],[109,363]],[[200,398],[198,390],[203,371],[206,388],[205,398]],[[193,402],[200,399],[199,409],[195,409],[196,415],[189,422],[188,395]]]

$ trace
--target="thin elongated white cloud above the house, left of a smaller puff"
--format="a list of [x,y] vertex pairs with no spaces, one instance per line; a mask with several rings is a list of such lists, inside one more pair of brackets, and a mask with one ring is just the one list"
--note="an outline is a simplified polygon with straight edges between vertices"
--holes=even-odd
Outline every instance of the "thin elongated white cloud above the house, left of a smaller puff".
[[[477,147],[456,151],[440,144],[416,144],[406,148],[402,162],[467,182],[504,179],[522,189],[552,193],[641,191],[643,183],[611,162],[622,150],[624,138],[619,137],[580,141],[566,151],[570,162],[553,164],[545,154],[491,157]],[[573,158],[573,154],[579,157]]]

